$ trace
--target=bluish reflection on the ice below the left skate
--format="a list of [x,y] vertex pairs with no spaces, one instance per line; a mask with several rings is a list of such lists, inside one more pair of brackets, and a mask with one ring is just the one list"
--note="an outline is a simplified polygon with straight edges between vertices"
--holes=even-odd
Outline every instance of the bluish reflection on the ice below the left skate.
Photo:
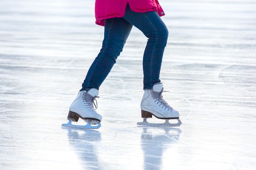
[[96,130],[68,130],[70,146],[81,160],[81,169],[101,170],[95,147],[101,141],[101,133]]

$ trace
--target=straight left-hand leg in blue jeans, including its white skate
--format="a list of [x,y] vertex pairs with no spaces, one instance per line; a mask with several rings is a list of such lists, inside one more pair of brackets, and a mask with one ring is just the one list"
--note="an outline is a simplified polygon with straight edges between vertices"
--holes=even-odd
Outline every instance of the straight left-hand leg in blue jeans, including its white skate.
[[[83,82],[83,88],[71,104],[67,115],[70,122],[78,121],[79,118],[88,122],[85,126],[79,126],[81,128],[99,128],[101,126],[102,116],[94,108],[94,99],[98,97],[99,86],[115,64],[132,29],[132,24],[123,18],[108,19],[105,20],[105,24],[102,49],[92,63]],[[78,127],[70,122],[63,126]],[[91,124],[97,126],[90,126]]]

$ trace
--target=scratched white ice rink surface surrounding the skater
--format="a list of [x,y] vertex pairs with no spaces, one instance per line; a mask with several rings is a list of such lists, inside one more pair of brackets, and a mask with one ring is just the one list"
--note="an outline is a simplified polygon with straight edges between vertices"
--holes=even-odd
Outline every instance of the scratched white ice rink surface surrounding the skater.
[[102,127],[79,130],[61,124],[101,48],[94,1],[0,0],[0,170],[256,169],[256,1],[159,1],[163,96],[182,125],[137,126],[134,27],[99,90]]

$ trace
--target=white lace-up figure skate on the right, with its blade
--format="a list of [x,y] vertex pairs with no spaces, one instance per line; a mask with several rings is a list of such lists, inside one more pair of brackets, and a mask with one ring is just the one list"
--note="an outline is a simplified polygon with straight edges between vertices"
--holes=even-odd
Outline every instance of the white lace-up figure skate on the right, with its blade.
[[[152,89],[146,89],[144,91],[141,100],[141,117],[144,121],[138,122],[137,125],[174,127],[182,124],[179,119],[179,112],[169,106],[163,99],[163,89],[163,84],[157,83],[153,85]],[[152,118],[152,115],[158,119],[165,119],[165,122],[163,124],[148,123],[147,118]],[[171,124],[169,123],[170,119],[177,119],[178,122],[176,124]]]

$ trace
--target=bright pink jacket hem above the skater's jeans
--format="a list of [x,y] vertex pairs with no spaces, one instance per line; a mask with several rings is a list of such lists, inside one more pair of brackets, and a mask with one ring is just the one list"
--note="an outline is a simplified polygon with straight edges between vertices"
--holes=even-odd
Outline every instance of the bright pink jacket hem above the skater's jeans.
[[164,15],[158,0],[96,0],[95,18],[96,24],[104,26],[105,19],[123,17],[126,5],[129,3],[130,9],[135,12],[157,11],[159,16]]

